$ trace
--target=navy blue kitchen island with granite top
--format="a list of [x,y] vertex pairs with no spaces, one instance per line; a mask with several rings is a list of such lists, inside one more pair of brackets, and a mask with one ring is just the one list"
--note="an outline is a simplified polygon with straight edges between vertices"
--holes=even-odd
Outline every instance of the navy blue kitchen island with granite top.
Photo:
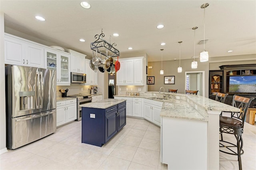
[[126,100],[105,99],[82,106],[82,143],[102,146],[126,125]]

